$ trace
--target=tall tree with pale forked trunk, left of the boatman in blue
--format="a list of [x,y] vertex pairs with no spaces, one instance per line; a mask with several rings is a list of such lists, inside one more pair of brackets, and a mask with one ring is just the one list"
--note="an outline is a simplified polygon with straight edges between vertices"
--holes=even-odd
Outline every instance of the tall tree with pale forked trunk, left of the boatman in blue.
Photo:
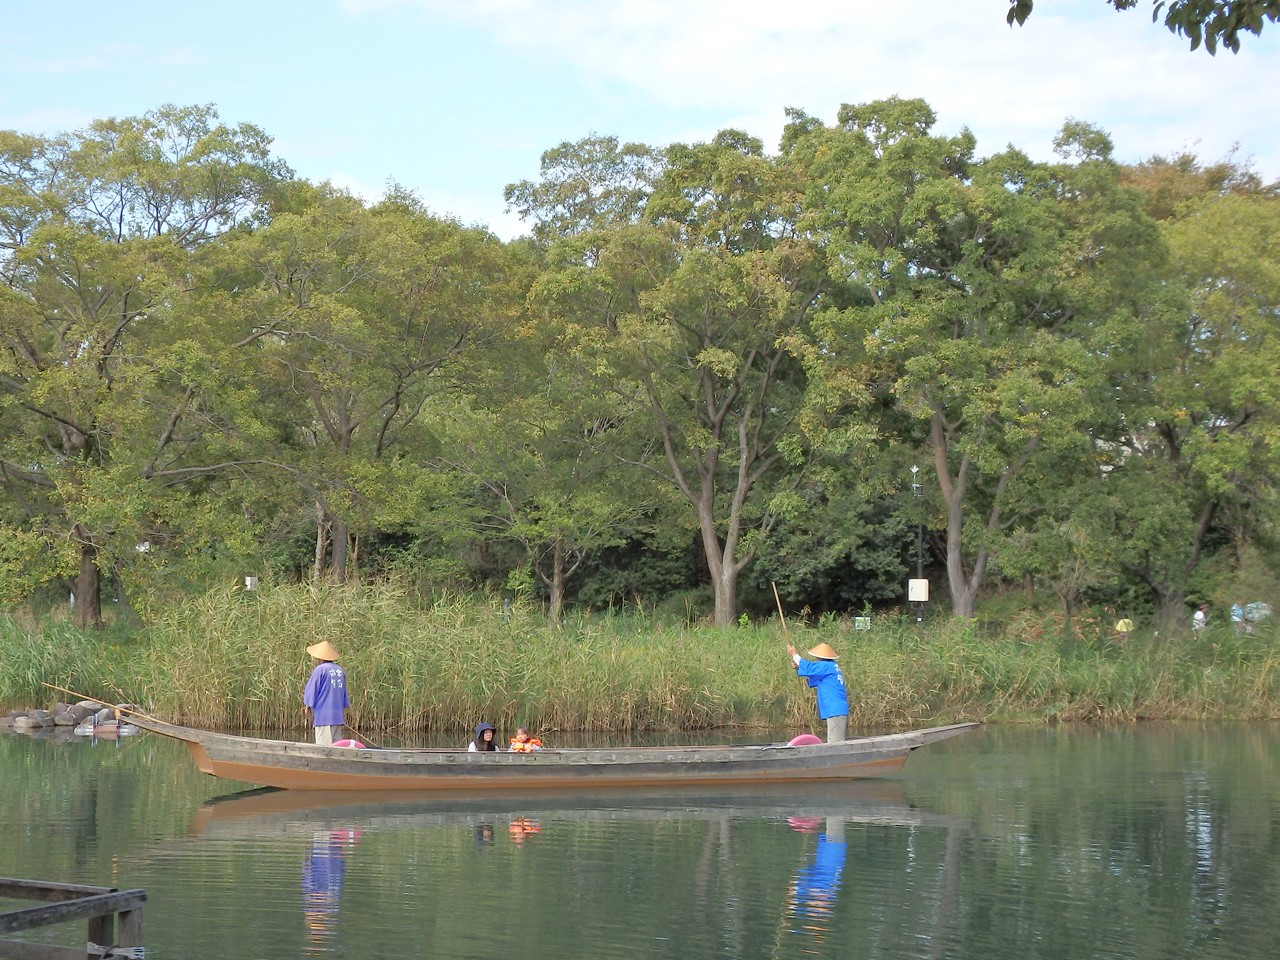
[[671,483],[696,517],[716,622],[777,522],[803,447],[801,369],[783,338],[824,283],[795,232],[795,191],[762,145],[726,131],[666,151],[646,223],[568,237],[536,288],[599,389],[634,406],[650,452],[618,456]]

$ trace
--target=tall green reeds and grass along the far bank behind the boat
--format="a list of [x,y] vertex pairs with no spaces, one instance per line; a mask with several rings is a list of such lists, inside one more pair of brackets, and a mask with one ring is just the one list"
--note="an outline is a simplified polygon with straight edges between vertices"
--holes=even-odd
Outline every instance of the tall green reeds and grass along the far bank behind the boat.
[[[1280,718],[1274,628],[1144,635],[1124,645],[1052,618],[1000,628],[938,620],[790,623],[796,646],[841,653],[855,728],[959,719]],[[308,644],[342,652],[348,719],[369,733],[454,733],[477,718],[540,731],[810,728],[777,621],[732,628],[595,614],[548,627],[499,600],[433,605],[394,586],[214,591],[146,631],[83,635],[0,616],[0,707],[47,704],[41,681],[205,727],[306,724]]]

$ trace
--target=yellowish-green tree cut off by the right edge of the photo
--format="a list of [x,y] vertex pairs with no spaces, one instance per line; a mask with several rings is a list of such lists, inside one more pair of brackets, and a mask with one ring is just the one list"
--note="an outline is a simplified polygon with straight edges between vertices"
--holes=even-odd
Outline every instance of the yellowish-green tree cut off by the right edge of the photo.
[[1108,356],[1106,489],[1125,568],[1180,622],[1207,553],[1275,527],[1280,200],[1208,196],[1164,234],[1166,283]]

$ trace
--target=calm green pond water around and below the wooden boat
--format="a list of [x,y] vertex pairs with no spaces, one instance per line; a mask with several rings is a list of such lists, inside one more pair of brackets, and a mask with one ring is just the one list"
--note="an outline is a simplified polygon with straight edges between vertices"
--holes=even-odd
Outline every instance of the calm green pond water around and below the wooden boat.
[[1280,950],[1280,726],[988,727],[895,780],[730,796],[229,787],[159,737],[0,733],[0,876],[145,888],[159,960]]

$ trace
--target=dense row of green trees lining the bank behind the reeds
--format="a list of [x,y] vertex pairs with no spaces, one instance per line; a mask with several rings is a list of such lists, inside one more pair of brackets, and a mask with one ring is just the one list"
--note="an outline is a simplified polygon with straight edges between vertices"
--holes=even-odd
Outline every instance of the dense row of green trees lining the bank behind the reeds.
[[1275,187],[933,127],[562,143],[509,243],[211,108],[0,133],[0,603],[396,577],[724,626],[916,563],[961,617],[1274,598]]

